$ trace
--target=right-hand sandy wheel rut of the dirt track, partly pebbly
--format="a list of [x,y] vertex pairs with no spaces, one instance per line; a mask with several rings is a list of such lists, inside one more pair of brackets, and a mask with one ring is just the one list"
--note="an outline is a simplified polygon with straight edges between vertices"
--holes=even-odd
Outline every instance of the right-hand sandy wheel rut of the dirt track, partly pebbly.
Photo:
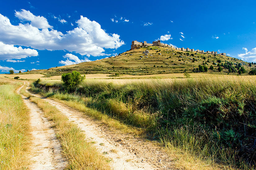
[[76,123],[86,135],[86,140],[93,142],[100,152],[113,160],[114,169],[175,169],[174,160],[158,142],[146,141],[131,134],[121,134],[55,100],[38,94],[32,95],[56,106],[70,121]]

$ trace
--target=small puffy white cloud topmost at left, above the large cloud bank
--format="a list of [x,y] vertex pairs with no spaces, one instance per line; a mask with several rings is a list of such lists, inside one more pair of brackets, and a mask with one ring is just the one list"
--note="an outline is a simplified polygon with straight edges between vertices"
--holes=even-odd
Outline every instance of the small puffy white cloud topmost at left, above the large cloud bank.
[[43,16],[35,16],[30,11],[26,11],[24,9],[22,9],[21,11],[15,11],[15,16],[22,21],[30,21],[30,24],[36,28],[52,28],[46,18],[44,18]]

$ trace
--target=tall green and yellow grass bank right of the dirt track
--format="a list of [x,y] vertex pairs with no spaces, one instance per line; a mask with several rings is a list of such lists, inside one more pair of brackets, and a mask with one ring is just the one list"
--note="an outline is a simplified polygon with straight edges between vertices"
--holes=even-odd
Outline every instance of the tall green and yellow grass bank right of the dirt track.
[[[85,81],[73,94],[35,84],[49,96],[82,101],[165,144],[240,168],[256,160],[255,76],[113,84]],[[49,90],[50,89],[50,90]],[[51,90],[52,89],[52,90]]]

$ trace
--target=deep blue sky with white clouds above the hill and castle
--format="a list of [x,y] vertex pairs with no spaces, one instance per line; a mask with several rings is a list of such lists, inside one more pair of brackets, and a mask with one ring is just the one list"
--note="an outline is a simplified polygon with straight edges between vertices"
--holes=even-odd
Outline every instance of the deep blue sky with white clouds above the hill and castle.
[[0,73],[93,61],[160,39],[256,62],[256,1],[5,1]]

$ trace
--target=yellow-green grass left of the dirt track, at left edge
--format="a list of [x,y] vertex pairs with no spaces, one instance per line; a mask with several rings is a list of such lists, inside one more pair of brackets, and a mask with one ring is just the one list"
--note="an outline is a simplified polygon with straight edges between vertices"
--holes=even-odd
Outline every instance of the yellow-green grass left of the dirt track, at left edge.
[[0,85],[0,169],[28,169],[29,114],[15,89],[21,83],[1,79]]

